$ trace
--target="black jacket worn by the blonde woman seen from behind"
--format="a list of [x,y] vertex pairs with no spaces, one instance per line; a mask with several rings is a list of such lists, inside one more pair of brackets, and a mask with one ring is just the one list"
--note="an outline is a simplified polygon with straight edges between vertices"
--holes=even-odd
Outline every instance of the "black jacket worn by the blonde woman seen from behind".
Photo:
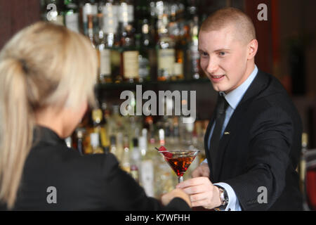
[[[190,210],[181,198],[167,207],[148,198],[110,153],[81,156],[44,127],[34,136],[13,210]],[[50,186],[56,188],[57,203],[46,200],[52,199]]]

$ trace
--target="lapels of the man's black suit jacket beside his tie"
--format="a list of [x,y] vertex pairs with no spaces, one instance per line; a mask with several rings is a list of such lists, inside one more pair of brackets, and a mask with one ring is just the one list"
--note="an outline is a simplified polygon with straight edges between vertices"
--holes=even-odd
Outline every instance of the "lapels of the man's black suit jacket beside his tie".
[[[242,125],[239,123],[242,121],[240,119],[243,117],[244,112],[246,111],[246,108],[248,108],[247,107],[248,100],[253,98],[254,96],[258,96],[258,94],[263,89],[265,89],[265,87],[268,85],[268,80],[269,80],[268,76],[265,75],[265,73],[262,72],[261,70],[258,70],[258,74],[256,78],[247,89],[246,93],[242,97],[242,100],[237,105],[237,108],[235,109],[234,113],[232,113],[232,116],[230,117],[230,121],[228,122],[228,125],[225,128],[225,131],[223,132],[222,138],[220,139],[220,146],[219,146],[218,155],[216,159],[216,170],[213,172],[213,181],[217,182],[220,178],[220,172],[223,169],[223,155],[225,154],[226,148],[228,146],[228,143],[232,139],[232,136],[234,136],[239,131],[239,127],[241,127]],[[210,122],[210,124],[213,124],[213,122],[212,123]],[[209,131],[211,130],[210,124],[208,127]],[[208,136],[209,136],[209,133],[208,133]],[[207,149],[209,149],[209,146],[207,146]]]

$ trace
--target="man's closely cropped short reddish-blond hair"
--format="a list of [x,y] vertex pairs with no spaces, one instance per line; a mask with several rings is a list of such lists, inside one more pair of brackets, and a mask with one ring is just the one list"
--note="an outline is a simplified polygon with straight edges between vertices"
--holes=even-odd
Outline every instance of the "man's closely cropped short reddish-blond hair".
[[209,15],[209,17],[203,21],[201,31],[210,32],[220,30],[229,25],[235,27],[235,32],[239,34],[237,36],[239,36],[242,41],[256,39],[256,30],[251,18],[241,10],[232,7],[221,8]]

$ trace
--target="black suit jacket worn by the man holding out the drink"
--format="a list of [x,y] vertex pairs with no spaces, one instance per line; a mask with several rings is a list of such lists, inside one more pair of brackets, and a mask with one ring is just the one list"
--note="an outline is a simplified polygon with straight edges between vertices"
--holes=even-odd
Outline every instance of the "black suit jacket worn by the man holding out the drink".
[[[204,137],[210,168],[213,121],[214,117]],[[287,91],[275,77],[258,70],[220,139],[212,183],[232,186],[242,210],[301,210],[296,172],[301,133],[301,117]],[[258,203],[258,197],[263,199],[261,186],[268,203]]]

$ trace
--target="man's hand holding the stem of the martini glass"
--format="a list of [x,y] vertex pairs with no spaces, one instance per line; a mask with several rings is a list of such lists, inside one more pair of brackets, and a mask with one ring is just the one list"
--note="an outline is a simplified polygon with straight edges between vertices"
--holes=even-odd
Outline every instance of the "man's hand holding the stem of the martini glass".
[[213,186],[208,177],[192,178],[181,182],[176,187],[190,195],[192,207],[203,206],[213,209],[221,205],[219,189]]

